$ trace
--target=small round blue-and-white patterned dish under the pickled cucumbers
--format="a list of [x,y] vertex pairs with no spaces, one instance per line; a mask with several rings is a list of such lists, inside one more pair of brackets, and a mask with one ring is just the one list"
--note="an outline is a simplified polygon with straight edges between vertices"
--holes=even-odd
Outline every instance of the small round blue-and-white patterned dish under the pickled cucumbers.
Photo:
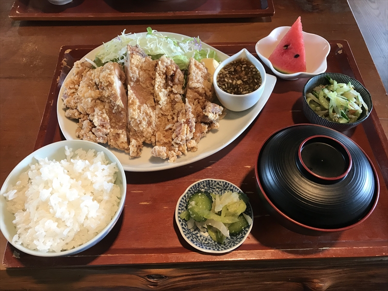
[[230,238],[226,238],[224,244],[220,244],[218,242],[214,242],[210,236],[205,236],[200,233],[198,228],[191,231],[187,227],[187,222],[179,217],[180,213],[186,210],[187,201],[191,195],[198,190],[221,195],[226,191],[242,192],[239,187],[225,180],[203,179],[190,185],[182,196],[180,196],[175,209],[175,220],[177,221],[178,228],[185,241],[200,251],[214,254],[230,252],[240,246],[247,238],[253,226],[253,212],[250,203],[248,202],[244,213],[252,218],[251,225],[245,228],[239,235],[230,236]]

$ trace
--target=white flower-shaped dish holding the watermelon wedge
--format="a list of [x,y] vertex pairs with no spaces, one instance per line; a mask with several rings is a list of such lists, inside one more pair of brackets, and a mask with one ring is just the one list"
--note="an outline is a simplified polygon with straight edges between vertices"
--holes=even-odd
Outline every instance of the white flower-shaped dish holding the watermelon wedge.
[[275,28],[268,36],[257,42],[256,52],[261,61],[267,65],[277,77],[285,80],[311,78],[325,72],[327,69],[326,57],[330,52],[330,45],[322,36],[307,32],[303,32],[303,40],[306,49],[306,72],[283,74],[275,70],[268,58],[290,28],[290,26]]

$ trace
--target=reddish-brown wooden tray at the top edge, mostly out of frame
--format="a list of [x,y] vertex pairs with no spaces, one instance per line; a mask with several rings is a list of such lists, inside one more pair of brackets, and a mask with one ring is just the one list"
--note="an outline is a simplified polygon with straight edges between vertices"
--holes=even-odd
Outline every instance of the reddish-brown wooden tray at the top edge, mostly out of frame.
[[140,20],[255,18],[274,16],[272,0],[73,0],[54,5],[47,0],[16,0],[14,20]]

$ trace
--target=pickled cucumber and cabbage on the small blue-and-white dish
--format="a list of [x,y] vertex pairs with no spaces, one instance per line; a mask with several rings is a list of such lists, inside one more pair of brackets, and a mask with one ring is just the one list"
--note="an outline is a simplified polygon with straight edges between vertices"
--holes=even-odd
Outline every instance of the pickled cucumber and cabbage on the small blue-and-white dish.
[[223,244],[226,238],[238,235],[252,224],[252,218],[244,213],[248,202],[244,193],[226,191],[220,195],[197,191],[179,217],[187,221],[191,231],[198,228],[205,236]]

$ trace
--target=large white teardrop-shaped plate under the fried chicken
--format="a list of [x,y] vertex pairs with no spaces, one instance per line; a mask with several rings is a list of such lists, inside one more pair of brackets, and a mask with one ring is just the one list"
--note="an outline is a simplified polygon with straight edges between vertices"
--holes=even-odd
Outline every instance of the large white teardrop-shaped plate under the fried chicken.
[[[188,38],[189,36],[172,33],[172,32],[158,32],[162,33],[165,36],[179,38]],[[146,34],[146,32],[136,33],[137,36]],[[202,43],[203,48],[210,48],[209,45]],[[88,58],[94,60],[97,52],[102,49],[102,46],[93,49],[87,55],[85,55],[81,60]],[[221,52],[218,49],[214,49],[217,52],[218,57],[221,61],[225,60],[228,55]],[[64,82],[73,74],[71,69],[69,74],[66,76]],[[272,90],[275,87],[276,77],[267,74],[267,82],[264,88],[263,95],[259,99],[259,102],[250,109],[242,112],[231,112],[227,111],[225,118],[220,120],[220,128],[217,130],[211,130],[208,132],[207,136],[202,138],[198,144],[198,150],[196,152],[188,152],[186,155],[178,157],[177,161],[174,163],[169,163],[167,160],[162,160],[161,158],[155,158],[151,155],[151,145],[145,145],[142,150],[142,155],[137,158],[130,159],[129,154],[126,154],[124,151],[117,149],[109,148],[113,154],[118,158],[118,160],[123,165],[124,170],[132,172],[152,172],[160,171],[166,169],[172,169],[179,166],[183,166],[192,162],[199,161],[210,155],[218,152],[223,149],[231,142],[233,142],[259,115],[260,111],[263,109],[265,103],[270,97]],[[63,100],[62,94],[64,92],[64,87],[61,87],[58,96],[57,104],[57,115],[59,126],[67,140],[78,139],[76,137],[77,122],[75,120],[65,117],[65,110],[63,109]],[[108,147],[108,145],[103,145]]]

